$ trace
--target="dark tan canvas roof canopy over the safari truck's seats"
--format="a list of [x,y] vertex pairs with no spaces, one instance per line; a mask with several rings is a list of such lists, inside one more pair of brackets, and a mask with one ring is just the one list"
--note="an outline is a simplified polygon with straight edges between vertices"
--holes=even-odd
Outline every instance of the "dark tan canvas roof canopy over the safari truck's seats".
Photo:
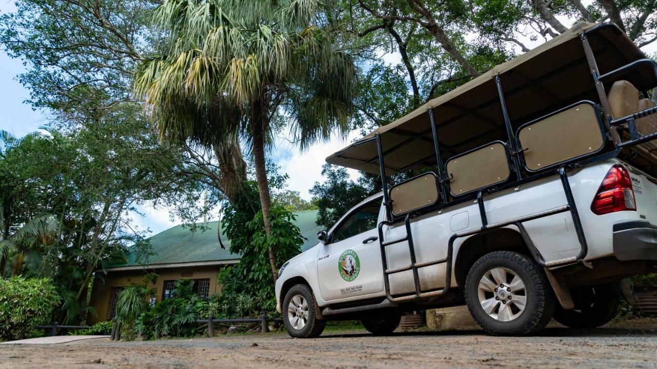
[[[639,47],[614,24],[581,23],[461,87],[420,106],[406,116],[379,127],[350,146],[328,156],[327,162],[369,173],[380,173],[376,142],[380,134],[386,175],[415,167],[436,165],[436,152],[428,111],[434,114],[443,162],[488,142],[507,142],[503,110],[495,83],[499,76],[513,134],[523,123],[581,100],[599,104],[595,83],[584,53],[585,33],[600,74],[645,58]],[[627,79],[647,91],[657,85],[652,66],[646,65]],[[605,81],[608,91],[613,81]],[[363,143],[365,142],[365,143]]]

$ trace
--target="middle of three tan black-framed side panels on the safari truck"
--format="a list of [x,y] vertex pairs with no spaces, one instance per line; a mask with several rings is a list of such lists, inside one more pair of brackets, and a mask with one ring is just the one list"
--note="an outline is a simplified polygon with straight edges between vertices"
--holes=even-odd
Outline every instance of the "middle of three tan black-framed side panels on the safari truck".
[[507,147],[501,142],[451,158],[446,166],[447,175],[453,177],[449,188],[454,196],[502,183],[510,175]]

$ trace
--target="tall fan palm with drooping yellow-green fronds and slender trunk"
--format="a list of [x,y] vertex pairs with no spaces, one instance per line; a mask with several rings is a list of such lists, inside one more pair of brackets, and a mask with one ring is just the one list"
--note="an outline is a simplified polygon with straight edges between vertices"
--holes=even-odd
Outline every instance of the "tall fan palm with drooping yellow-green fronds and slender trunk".
[[[288,124],[304,149],[349,128],[355,66],[336,49],[330,16],[317,0],[165,0],[155,18],[170,39],[139,65],[135,93],[160,139],[250,146],[269,237],[273,133]],[[269,263],[275,280],[275,246]]]

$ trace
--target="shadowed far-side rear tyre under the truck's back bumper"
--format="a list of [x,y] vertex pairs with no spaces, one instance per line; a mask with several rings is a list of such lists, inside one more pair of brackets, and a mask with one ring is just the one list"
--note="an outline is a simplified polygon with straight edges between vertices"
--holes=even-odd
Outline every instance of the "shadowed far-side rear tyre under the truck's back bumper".
[[614,283],[578,288],[571,291],[575,309],[557,306],[555,320],[570,328],[604,326],[618,313],[620,290]]

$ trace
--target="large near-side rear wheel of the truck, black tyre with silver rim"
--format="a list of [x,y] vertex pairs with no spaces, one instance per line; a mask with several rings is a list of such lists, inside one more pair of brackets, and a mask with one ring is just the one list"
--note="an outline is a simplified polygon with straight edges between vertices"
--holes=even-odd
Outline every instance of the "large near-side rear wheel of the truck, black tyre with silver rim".
[[531,257],[513,251],[482,256],[468,272],[465,301],[474,320],[494,336],[541,330],[555,311],[545,272]]

